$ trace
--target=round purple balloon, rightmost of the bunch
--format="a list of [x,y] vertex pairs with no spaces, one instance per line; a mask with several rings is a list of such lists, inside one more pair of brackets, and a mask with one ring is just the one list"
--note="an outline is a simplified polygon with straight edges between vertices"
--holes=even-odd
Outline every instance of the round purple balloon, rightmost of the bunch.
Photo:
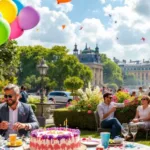
[[18,21],[22,29],[29,30],[39,23],[40,15],[33,7],[27,6],[20,11]]

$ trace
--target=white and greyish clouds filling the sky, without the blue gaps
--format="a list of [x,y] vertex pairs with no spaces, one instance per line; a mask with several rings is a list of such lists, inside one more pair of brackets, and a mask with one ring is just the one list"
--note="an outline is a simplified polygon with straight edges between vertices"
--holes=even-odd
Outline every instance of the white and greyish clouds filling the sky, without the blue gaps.
[[[94,49],[97,43],[100,53],[106,53],[110,58],[149,59],[150,21],[147,17],[150,14],[150,4],[146,1],[148,0],[125,0],[124,6],[105,6],[105,15],[112,15],[108,22],[109,27],[106,28],[95,18],[85,18],[81,22],[73,23],[67,16],[67,12],[73,9],[72,4],[56,5],[58,11],[52,11],[42,7],[40,1],[30,0],[40,12],[41,21],[36,28],[25,31],[18,42],[20,45],[41,44],[46,47],[66,45],[70,50],[73,50],[75,43],[79,50],[84,49],[85,43]],[[63,24],[66,25],[64,30],[61,28]],[[79,30],[81,26],[83,29]],[[145,42],[141,41],[142,37],[146,38]]]

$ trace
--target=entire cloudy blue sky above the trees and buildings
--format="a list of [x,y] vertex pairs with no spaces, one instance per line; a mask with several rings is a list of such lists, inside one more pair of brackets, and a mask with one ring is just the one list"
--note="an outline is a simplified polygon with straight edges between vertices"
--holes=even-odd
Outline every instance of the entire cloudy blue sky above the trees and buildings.
[[[39,24],[17,39],[19,45],[50,48],[65,45],[72,53],[75,43],[85,44],[109,58],[119,60],[150,59],[149,0],[22,0],[40,14]],[[66,27],[62,29],[62,25]],[[82,27],[82,30],[80,28]],[[142,38],[145,41],[141,40]]]

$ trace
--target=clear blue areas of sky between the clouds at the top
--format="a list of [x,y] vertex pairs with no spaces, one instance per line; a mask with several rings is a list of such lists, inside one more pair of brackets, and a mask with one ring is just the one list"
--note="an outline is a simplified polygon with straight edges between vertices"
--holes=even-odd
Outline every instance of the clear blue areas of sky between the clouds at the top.
[[[54,0],[43,0],[42,6],[55,10],[53,2]],[[103,7],[108,4],[111,4],[112,7],[124,5],[123,0],[107,0],[105,4],[102,4],[100,0],[72,0],[71,3],[73,4],[73,10],[68,12],[67,15],[72,22],[81,22],[85,18],[97,18],[106,26],[108,25],[110,18],[104,15]]]

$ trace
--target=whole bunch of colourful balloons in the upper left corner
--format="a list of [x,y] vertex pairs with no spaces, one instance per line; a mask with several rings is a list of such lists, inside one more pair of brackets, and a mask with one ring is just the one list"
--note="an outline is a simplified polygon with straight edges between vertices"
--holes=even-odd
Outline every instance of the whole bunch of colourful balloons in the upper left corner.
[[24,6],[21,0],[0,0],[0,45],[8,39],[19,38],[24,30],[34,28],[40,15],[32,6]]

